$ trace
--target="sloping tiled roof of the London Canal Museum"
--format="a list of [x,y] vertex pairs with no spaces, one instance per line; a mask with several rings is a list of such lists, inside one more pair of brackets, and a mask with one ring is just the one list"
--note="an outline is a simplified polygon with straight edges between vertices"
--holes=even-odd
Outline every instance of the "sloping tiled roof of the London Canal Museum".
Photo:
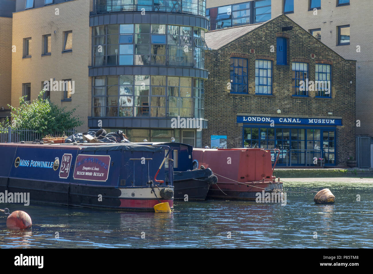
[[247,34],[253,29],[260,27],[264,23],[266,22],[252,25],[236,26],[232,28],[217,29],[215,31],[206,32],[206,44],[209,48],[213,50],[218,50],[219,48]]

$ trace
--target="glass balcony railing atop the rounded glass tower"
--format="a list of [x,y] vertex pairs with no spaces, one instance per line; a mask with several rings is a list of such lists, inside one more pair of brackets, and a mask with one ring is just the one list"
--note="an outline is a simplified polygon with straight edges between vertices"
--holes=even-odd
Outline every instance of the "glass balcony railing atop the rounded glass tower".
[[206,16],[206,0],[95,0],[94,12],[176,12]]

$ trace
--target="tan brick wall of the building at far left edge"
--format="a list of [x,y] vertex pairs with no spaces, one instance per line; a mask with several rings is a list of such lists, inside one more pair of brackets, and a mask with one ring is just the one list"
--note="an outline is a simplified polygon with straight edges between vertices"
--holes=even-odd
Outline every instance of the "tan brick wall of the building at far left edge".
[[0,17],[0,109],[9,109],[12,90],[12,18]]

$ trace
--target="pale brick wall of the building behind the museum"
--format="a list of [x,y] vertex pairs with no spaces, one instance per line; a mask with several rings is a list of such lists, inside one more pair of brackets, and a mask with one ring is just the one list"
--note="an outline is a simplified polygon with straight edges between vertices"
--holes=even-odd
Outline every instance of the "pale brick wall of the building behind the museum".
[[[283,11],[282,0],[272,0],[272,18]],[[336,7],[336,0],[321,0],[317,15],[308,11],[308,0],[295,0],[289,18],[302,28],[321,28],[321,41],[346,59],[356,63],[356,119],[361,127],[357,135],[373,136],[373,1],[350,0],[350,5]],[[337,46],[338,26],[350,25],[350,45]],[[360,45],[360,53],[356,52]],[[359,68],[360,66],[360,68]]]

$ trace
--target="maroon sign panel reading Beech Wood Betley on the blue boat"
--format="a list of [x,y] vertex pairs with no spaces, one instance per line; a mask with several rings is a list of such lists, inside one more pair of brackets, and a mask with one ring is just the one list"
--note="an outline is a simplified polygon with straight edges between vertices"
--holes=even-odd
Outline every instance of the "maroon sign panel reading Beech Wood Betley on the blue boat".
[[109,155],[80,154],[76,157],[74,179],[106,182],[109,167]]

